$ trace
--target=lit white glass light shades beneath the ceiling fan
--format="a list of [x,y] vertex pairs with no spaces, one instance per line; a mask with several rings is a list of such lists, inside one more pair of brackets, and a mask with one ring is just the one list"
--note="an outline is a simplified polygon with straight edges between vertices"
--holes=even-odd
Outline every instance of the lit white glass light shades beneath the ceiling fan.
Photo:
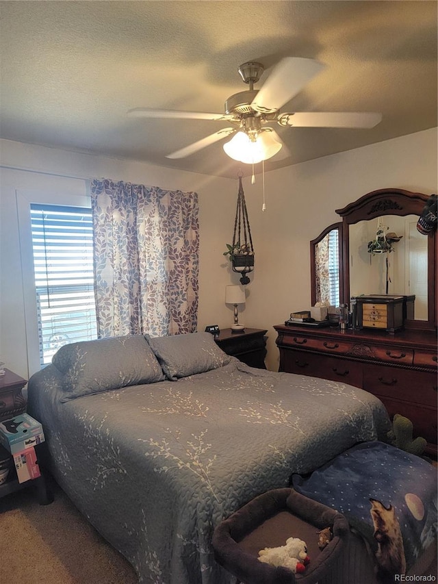
[[261,131],[255,141],[250,140],[245,132],[239,131],[223,148],[230,158],[238,162],[257,164],[279,152],[281,144],[270,135],[270,131]]

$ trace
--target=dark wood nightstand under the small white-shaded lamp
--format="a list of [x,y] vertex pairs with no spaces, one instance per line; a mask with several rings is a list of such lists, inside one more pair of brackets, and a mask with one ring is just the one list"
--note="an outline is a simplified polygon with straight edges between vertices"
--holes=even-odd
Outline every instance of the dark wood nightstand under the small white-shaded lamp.
[[231,329],[222,329],[215,340],[227,355],[237,357],[250,367],[266,369],[264,359],[267,332],[267,330],[246,328],[243,333],[233,333]]

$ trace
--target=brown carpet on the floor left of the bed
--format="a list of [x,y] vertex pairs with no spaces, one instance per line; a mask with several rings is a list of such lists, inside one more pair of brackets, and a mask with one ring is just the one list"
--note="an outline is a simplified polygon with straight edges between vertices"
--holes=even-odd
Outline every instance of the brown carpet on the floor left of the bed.
[[127,560],[50,481],[55,500],[34,489],[0,499],[0,581],[7,584],[138,584]]

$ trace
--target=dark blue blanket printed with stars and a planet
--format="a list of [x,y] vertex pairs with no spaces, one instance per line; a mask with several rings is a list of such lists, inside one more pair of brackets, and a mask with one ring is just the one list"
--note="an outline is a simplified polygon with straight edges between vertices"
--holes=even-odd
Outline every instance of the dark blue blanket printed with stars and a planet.
[[[305,496],[344,513],[350,526],[368,540],[378,563],[385,518],[389,521],[394,511],[406,570],[437,537],[436,468],[389,444],[357,444],[309,475],[293,474],[292,484]],[[382,513],[373,522],[371,510],[377,507]]]

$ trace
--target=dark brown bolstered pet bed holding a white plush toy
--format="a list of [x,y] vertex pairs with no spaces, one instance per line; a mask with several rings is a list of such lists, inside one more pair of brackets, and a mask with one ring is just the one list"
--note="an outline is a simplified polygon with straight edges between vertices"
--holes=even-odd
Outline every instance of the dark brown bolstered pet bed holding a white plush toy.
[[[333,539],[320,550],[318,531],[331,528]],[[216,559],[242,584],[317,584],[345,550],[348,522],[329,509],[292,489],[268,491],[235,511],[216,527]],[[288,537],[307,544],[310,562],[302,574],[257,559],[259,550],[283,546]]]

